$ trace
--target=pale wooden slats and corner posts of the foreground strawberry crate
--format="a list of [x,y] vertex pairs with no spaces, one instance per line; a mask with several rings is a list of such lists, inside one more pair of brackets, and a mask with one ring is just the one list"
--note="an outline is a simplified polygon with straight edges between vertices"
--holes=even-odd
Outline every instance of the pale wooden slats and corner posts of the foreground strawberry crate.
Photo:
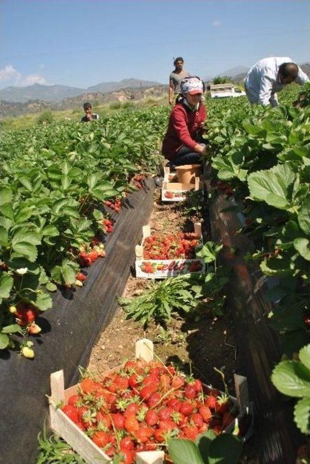
[[[151,340],[143,338],[138,340],[135,345],[136,358],[144,359],[150,362],[154,359],[154,345]],[[109,369],[103,375],[115,372],[123,365],[113,369]],[[100,379],[98,379],[100,381]],[[252,410],[252,405],[248,401],[248,383],[246,377],[236,375],[234,376],[236,398],[230,397],[234,405],[238,405],[239,415],[235,418],[234,422],[230,424],[223,432],[229,433],[233,431],[235,422],[242,417],[242,414],[248,409]],[[51,429],[58,433],[88,464],[107,464],[111,463],[111,458],[97,447],[93,441],[82,432],[78,426],[66,416],[62,410],[57,407],[60,403],[67,404],[68,399],[72,395],[78,393],[78,384],[64,389],[63,370],[53,372],[50,375],[51,396],[48,397],[49,402],[49,415]],[[204,385],[206,389],[212,389],[211,385]],[[246,441],[251,435],[252,429],[250,428],[247,435],[243,437]],[[136,464],[164,464],[164,451],[140,451],[136,454]],[[188,463],[190,464],[190,463]]]

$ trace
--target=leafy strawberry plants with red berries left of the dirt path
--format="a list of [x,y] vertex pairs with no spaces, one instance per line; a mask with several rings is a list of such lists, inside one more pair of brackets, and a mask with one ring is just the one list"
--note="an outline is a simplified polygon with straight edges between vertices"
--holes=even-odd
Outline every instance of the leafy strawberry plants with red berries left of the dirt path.
[[[119,212],[122,198],[142,187],[137,173],[155,170],[166,118],[159,108],[3,134],[0,349],[38,333],[49,292],[81,285],[80,268],[105,255],[113,229],[106,211]],[[21,349],[33,356],[31,342]]]

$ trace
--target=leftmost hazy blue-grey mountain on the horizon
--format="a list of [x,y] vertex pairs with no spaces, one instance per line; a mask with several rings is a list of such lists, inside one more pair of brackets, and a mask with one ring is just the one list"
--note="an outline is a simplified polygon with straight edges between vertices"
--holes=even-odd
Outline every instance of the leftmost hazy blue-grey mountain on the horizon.
[[84,89],[67,85],[33,84],[28,87],[6,87],[0,90],[0,99],[24,103],[28,100],[61,101],[79,95]]

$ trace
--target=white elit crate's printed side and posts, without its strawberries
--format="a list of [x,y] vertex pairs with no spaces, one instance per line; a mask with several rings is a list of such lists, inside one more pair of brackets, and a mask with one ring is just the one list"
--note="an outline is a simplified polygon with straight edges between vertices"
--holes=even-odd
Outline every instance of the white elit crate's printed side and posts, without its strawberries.
[[[201,223],[194,223],[194,232],[200,237],[202,243],[202,225]],[[143,259],[143,242],[151,235],[151,228],[149,225],[142,227],[142,241],[140,245],[136,246],[136,277],[143,279],[165,279],[167,277],[174,277],[181,274],[189,274],[194,272],[205,272],[205,263],[201,258],[194,259]],[[144,272],[142,270],[144,263],[151,263],[154,272]],[[190,266],[192,263],[198,263],[200,266],[199,271],[191,271]]]

